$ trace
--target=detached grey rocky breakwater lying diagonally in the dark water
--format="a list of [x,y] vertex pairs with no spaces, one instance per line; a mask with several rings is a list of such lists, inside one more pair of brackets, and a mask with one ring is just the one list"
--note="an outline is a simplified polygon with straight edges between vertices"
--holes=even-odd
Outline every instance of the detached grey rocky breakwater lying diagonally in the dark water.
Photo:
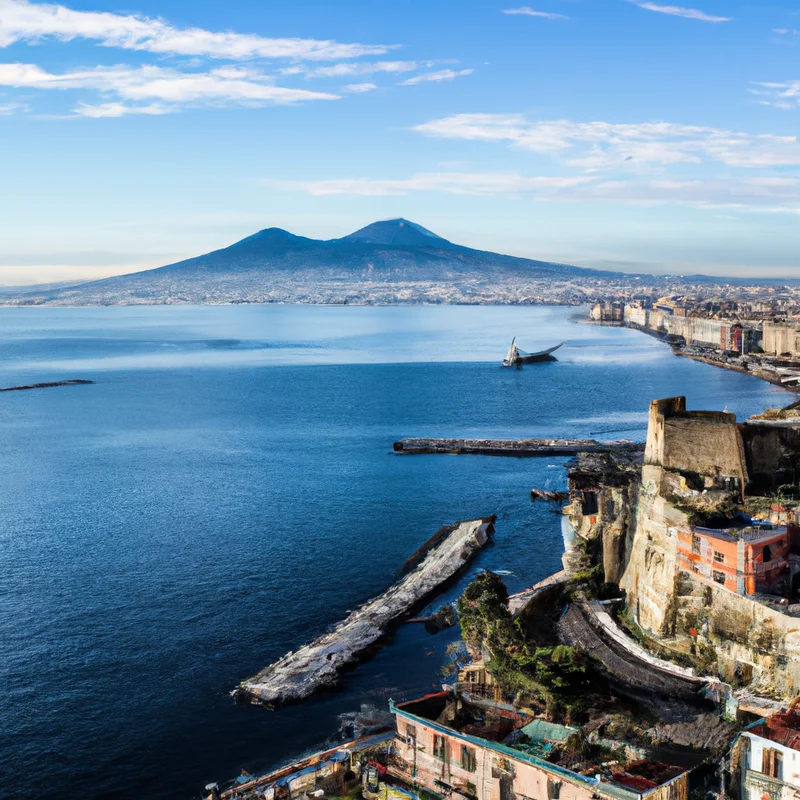
[[[277,708],[333,686],[340,672],[359,661],[401,617],[457,575],[494,533],[494,517],[442,528],[424,558],[383,594],[353,611],[333,630],[242,681],[237,699]],[[426,546],[423,546],[426,547]]]

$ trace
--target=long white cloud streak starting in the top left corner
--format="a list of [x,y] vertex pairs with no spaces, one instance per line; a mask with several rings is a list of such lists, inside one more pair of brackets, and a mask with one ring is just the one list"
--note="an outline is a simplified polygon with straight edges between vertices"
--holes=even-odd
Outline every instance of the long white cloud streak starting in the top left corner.
[[106,47],[184,56],[333,61],[383,55],[395,45],[343,44],[331,40],[268,38],[232,31],[175,28],[162,19],[133,14],[74,11],[55,4],[0,0],[0,47],[45,38],[90,39]]

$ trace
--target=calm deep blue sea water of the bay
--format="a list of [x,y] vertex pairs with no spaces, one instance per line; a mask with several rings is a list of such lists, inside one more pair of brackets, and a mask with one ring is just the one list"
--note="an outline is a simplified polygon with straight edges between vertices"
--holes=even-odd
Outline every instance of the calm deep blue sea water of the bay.
[[[739,415],[787,399],[573,313],[0,311],[0,384],[97,381],[0,395],[0,795],[196,797],[434,686],[453,632],[407,626],[305,705],[228,696],[443,523],[497,514],[472,572],[510,570],[512,590],[559,568],[559,519],[528,496],[565,485],[562,460],[403,458],[395,439],[637,437],[655,397]],[[503,370],[512,334],[568,346]]]

